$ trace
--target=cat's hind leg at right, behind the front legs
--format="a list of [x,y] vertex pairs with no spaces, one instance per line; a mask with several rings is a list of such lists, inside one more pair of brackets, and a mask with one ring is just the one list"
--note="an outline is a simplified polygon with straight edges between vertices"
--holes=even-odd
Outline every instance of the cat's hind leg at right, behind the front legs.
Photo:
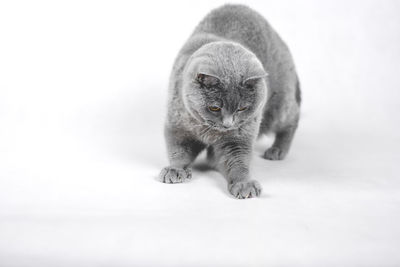
[[264,153],[264,158],[269,160],[282,160],[289,152],[290,145],[297,129],[297,124],[278,130],[275,141]]

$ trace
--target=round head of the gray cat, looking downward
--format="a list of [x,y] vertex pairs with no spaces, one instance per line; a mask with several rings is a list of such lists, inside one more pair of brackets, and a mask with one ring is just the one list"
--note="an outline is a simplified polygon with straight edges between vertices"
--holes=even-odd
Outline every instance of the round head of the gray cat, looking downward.
[[238,128],[262,110],[267,96],[266,72],[258,58],[232,42],[202,46],[183,72],[186,109],[214,129]]

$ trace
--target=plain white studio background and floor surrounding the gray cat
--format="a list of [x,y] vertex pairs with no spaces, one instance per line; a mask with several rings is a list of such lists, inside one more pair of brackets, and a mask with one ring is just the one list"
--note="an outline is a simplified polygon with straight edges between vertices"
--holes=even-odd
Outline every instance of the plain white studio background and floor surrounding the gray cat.
[[298,68],[288,158],[257,144],[258,199],[156,181],[173,60],[222,3],[0,3],[0,266],[400,265],[399,1],[246,2]]

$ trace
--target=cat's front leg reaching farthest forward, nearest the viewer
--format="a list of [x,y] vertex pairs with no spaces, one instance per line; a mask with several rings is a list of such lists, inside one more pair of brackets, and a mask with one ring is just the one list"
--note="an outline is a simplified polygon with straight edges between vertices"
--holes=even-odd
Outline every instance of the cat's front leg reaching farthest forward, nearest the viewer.
[[250,179],[252,142],[230,139],[214,146],[217,168],[228,181],[229,192],[238,199],[259,196],[261,185]]

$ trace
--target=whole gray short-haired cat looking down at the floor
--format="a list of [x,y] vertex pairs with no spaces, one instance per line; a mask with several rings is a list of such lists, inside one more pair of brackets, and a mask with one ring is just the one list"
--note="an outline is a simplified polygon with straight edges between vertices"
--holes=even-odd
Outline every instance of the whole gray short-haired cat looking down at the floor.
[[176,58],[169,84],[165,138],[170,166],[159,179],[191,178],[207,149],[212,167],[236,198],[259,196],[249,161],[258,135],[275,133],[264,157],[281,160],[299,120],[300,88],[290,52],[257,12],[242,5],[211,11]]

